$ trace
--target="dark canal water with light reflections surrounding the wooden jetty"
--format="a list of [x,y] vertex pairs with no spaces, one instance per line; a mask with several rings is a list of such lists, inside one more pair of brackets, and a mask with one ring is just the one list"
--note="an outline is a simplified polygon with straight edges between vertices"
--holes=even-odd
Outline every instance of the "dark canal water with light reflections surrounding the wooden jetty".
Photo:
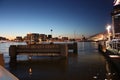
[[17,56],[17,63],[9,64],[9,46],[25,43],[0,43],[5,68],[20,80],[120,80],[117,70],[97,50],[96,42],[78,42],[78,53],[67,58]]

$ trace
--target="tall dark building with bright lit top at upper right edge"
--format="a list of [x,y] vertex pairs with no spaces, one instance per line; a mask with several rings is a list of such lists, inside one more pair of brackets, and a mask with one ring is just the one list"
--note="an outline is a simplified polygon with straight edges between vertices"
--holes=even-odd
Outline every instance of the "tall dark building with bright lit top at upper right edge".
[[112,11],[113,37],[120,38],[120,0],[114,1]]

